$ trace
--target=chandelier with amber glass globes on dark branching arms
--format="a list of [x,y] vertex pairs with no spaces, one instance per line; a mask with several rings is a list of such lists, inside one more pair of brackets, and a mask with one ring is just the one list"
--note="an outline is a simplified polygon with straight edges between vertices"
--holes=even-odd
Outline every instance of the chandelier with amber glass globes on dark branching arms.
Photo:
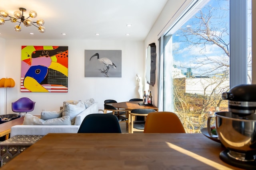
[[[28,18],[25,19],[25,17],[23,16],[23,12],[26,12],[27,10],[25,8],[19,8],[20,11],[15,11],[14,12],[14,17],[9,16],[8,12],[6,12],[5,10],[0,10],[0,25],[4,25],[4,21],[11,21],[13,23],[18,22],[18,23],[22,23],[26,26],[29,27],[31,25],[34,25],[36,27],[38,27],[38,30],[40,33],[44,33],[45,32],[45,28],[42,26],[44,25],[44,20],[37,20],[36,22],[33,22],[32,20],[30,20],[29,18],[36,18],[37,14],[35,11],[30,11],[29,12],[29,16]],[[4,20],[4,18],[6,17],[10,17],[9,20]],[[20,20],[20,21],[19,21]],[[36,23],[37,25],[35,25],[34,23]],[[17,32],[21,31],[21,27],[19,25],[15,25],[14,30]]]

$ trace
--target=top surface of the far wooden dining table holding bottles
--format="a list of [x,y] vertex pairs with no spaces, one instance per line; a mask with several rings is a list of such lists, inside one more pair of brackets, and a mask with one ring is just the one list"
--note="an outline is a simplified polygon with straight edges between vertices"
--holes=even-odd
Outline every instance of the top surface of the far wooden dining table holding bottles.
[[143,103],[143,102],[138,102],[138,101],[133,101],[133,102],[120,102],[120,103],[112,103],[112,106],[118,107],[118,108],[124,108],[124,109],[154,109],[158,111],[158,107],[156,106],[140,106],[138,103]]

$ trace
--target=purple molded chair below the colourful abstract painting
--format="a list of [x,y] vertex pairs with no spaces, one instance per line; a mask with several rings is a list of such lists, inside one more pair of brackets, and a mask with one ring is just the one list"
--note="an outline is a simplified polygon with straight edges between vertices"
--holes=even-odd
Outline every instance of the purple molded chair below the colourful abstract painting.
[[36,102],[33,102],[29,98],[20,98],[15,102],[12,102],[12,111],[19,113],[22,116],[22,113],[27,113],[34,110]]

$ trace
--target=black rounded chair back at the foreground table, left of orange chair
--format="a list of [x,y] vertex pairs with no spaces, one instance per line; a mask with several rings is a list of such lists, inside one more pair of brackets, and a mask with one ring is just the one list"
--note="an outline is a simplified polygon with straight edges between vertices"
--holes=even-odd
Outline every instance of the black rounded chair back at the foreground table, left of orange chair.
[[115,115],[93,113],[87,115],[77,133],[122,133]]

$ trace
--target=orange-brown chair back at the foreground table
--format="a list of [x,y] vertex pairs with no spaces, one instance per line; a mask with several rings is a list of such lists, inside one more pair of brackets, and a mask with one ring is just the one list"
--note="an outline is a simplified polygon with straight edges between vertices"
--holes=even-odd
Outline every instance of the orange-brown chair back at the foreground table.
[[148,113],[144,133],[186,133],[179,117],[172,112]]

